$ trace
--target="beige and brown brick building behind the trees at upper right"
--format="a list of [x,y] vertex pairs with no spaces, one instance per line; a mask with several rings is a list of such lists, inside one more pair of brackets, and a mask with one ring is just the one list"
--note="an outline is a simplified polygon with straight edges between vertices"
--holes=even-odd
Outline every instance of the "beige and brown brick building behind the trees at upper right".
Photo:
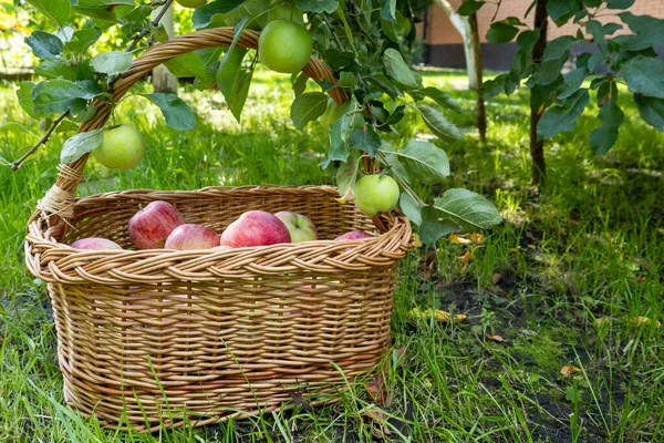
[[[449,2],[456,10],[458,9],[459,4],[461,4],[463,0],[449,0]],[[505,44],[492,44],[487,42],[486,34],[491,25],[494,16],[496,14],[496,21],[504,20],[508,17],[517,17],[532,28],[535,9],[531,10],[528,18],[523,20],[523,16],[531,3],[532,0],[502,0],[500,9],[496,14],[497,6],[495,3],[487,2],[477,12],[477,21],[481,42],[481,63],[484,69],[498,71],[509,70],[509,64],[518,50],[517,43],[513,41]],[[636,0],[629,11],[635,16],[647,14],[664,19],[664,0]],[[603,23],[612,21],[620,23],[620,18],[616,16],[620,12],[623,11],[603,11],[598,20]],[[553,40],[560,35],[575,35],[577,30],[580,28],[584,30],[583,27],[573,24],[571,20],[569,23],[560,28],[558,28],[553,22],[550,22],[548,39]],[[619,31],[619,33],[620,32],[630,31],[629,29],[625,29]],[[418,27],[418,33],[426,44],[426,53],[424,59],[426,64],[440,68],[466,68],[461,35],[449,22],[449,19],[442,7],[433,6],[429,8],[424,23],[421,23]],[[662,45],[664,49],[664,41],[662,42]],[[658,52],[660,56],[664,54],[664,50]]]

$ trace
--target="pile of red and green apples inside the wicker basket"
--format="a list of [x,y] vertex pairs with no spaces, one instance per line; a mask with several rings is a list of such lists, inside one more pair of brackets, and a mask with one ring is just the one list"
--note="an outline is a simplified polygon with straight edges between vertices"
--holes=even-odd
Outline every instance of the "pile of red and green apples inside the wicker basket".
[[[212,229],[186,224],[181,214],[167,202],[152,202],[128,223],[129,237],[138,249],[195,250],[243,248],[318,239],[315,225],[309,217],[282,210],[270,214],[249,210],[218,235]],[[335,240],[373,237],[363,230],[351,230]],[[70,245],[75,249],[122,249],[115,241],[100,237],[81,238]]]

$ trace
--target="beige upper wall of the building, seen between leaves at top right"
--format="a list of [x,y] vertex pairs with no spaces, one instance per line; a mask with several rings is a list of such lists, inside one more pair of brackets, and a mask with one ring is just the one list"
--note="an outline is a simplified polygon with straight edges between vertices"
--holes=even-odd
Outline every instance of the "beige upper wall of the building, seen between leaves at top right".
[[[517,17],[519,19],[523,18],[526,10],[530,6],[532,0],[502,0],[502,4],[496,16],[496,20],[502,20],[507,17]],[[450,4],[456,9],[461,3],[461,0],[449,0]],[[634,4],[629,9],[635,16],[649,14],[653,17],[658,17],[664,19],[664,0],[636,0]],[[598,18],[601,22],[610,22],[610,21],[619,21],[620,19],[614,16],[614,13],[619,13],[622,11],[619,10],[608,10],[604,13],[613,14],[613,17],[600,17]],[[491,19],[496,13],[496,4],[486,3],[478,12],[477,12],[477,22],[479,25],[479,35],[481,42],[485,43],[485,35],[491,25]],[[528,19],[525,21],[527,24],[532,27],[532,20],[535,17],[535,11],[531,11],[528,16]],[[579,24],[568,23],[561,28],[558,28],[554,23],[549,24],[549,40],[553,40],[560,35],[577,33],[577,29],[579,29]],[[621,30],[622,32],[626,32]],[[619,32],[621,32],[619,31]],[[629,31],[629,30],[627,30]],[[422,32],[422,31],[421,31]],[[422,35],[422,33],[419,34]],[[457,30],[453,27],[453,24],[447,19],[445,11],[440,7],[432,7],[428,13],[428,25],[427,25],[427,35],[426,35],[427,44],[461,44],[463,40]],[[662,42],[664,44],[664,42]]]

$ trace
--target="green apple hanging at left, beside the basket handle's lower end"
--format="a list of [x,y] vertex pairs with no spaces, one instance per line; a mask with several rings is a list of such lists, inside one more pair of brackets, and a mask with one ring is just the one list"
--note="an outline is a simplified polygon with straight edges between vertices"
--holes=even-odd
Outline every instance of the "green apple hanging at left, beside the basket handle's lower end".
[[136,166],[145,154],[143,134],[134,126],[122,124],[103,133],[102,144],[92,155],[110,168],[127,169]]

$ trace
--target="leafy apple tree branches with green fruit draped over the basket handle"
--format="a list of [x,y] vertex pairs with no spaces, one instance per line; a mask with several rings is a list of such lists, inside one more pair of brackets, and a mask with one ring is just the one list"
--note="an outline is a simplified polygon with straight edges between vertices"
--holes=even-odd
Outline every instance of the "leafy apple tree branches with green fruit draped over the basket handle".
[[[168,39],[153,8],[166,10],[173,0],[143,3],[136,0],[27,0],[28,8],[44,14],[51,28],[34,31],[25,39],[40,60],[39,82],[24,82],[18,91],[21,106],[34,119],[49,122],[43,137],[13,168],[46,143],[59,125],[75,126],[91,119],[94,100],[113,100],[113,82],[131,65],[149,41]],[[329,127],[326,156],[321,167],[336,167],[340,195],[351,200],[355,183],[364,175],[390,176],[391,205],[415,225],[424,243],[434,244],[450,233],[487,228],[500,222],[494,205],[473,192],[450,188],[425,202],[414,188],[445,184],[449,162],[438,145],[407,140],[394,146],[391,133],[406,113],[418,115],[439,145],[464,140],[446,117],[461,112],[454,97],[427,86],[405,62],[413,48],[415,27],[427,2],[408,0],[178,0],[194,8],[191,28],[196,30],[232,27],[235,40],[228,48],[207,48],[179,55],[165,63],[180,78],[195,78],[197,89],[218,89],[238,122],[249,94],[257,63],[291,72],[294,100],[292,124],[304,131],[312,121]],[[246,29],[264,30],[259,50],[238,47]],[[97,42],[107,32],[124,41],[125,50],[98,51]],[[96,55],[91,56],[94,48]],[[307,90],[302,60],[311,54],[322,59],[338,81],[322,82],[319,91]],[[406,56],[407,58],[407,56]],[[338,105],[328,96],[333,87],[343,89],[349,100]],[[195,130],[196,119],[187,104],[173,94],[142,94],[157,105],[166,123],[176,130]],[[96,150],[102,131],[80,133],[62,146],[61,161],[74,162]],[[414,186],[417,184],[417,186]],[[426,193],[427,195],[429,193]],[[362,199],[362,198],[360,198]],[[359,205],[361,206],[361,205]],[[372,210],[373,212],[373,207]],[[373,215],[373,214],[370,214]]]

